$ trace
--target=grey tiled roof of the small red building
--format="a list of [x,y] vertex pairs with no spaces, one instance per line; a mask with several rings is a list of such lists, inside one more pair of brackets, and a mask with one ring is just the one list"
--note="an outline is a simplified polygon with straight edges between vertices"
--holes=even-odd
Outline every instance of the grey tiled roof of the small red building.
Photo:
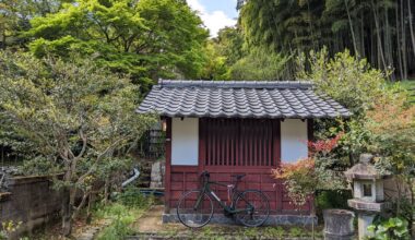
[[166,117],[335,118],[351,112],[309,82],[173,81],[153,86],[137,110]]

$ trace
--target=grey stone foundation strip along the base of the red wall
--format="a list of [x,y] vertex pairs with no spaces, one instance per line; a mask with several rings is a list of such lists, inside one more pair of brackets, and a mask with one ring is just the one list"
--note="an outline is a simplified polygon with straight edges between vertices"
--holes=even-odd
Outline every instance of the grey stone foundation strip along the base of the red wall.
[[[168,223],[179,223],[177,214],[163,214],[163,224]],[[301,216],[301,215],[270,215],[264,226],[310,226],[315,221],[315,225],[318,224],[317,217],[312,216]],[[211,224],[220,225],[238,225],[232,217],[226,217],[223,214],[213,214],[213,217],[210,221]]]

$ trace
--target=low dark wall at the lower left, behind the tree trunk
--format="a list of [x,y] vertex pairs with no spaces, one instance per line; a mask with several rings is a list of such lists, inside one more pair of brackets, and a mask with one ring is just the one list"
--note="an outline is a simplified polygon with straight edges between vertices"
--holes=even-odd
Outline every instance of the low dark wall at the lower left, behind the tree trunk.
[[57,218],[62,194],[51,189],[50,177],[14,177],[9,192],[0,193],[0,223],[22,221],[20,232],[31,232]]

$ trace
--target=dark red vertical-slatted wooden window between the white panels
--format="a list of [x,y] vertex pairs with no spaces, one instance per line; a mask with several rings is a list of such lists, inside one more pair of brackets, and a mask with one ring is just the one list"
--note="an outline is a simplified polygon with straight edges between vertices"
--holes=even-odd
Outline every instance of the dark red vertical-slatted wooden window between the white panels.
[[200,123],[200,158],[205,166],[275,166],[280,151],[274,147],[280,142],[273,133],[278,133],[278,120],[202,119]]

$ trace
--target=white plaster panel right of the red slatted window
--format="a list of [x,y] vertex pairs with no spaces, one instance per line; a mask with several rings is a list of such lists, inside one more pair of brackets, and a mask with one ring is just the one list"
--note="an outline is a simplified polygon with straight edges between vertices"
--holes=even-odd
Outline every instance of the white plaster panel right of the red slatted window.
[[285,119],[281,122],[281,160],[295,163],[308,156],[307,120]]

